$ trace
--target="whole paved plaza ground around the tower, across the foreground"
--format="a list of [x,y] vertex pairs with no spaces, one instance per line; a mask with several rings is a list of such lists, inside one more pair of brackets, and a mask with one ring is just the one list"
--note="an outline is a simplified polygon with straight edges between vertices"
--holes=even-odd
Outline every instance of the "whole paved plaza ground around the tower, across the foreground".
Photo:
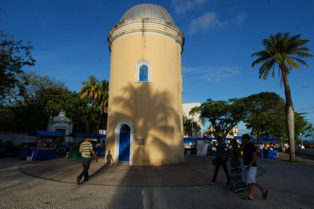
[[[214,186],[214,156],[185,155],[179,165],[130,166],[92,161],[90,180],[75,183],[80,159],[20,161],[0,158],[0,208],[313,208],[314,160],[303,162],[257,159],[256,180],[268,190],[263,200],[254,187],[248,193],[227,195],[222,168]],[[229,162],[228,162],[229,164]]]

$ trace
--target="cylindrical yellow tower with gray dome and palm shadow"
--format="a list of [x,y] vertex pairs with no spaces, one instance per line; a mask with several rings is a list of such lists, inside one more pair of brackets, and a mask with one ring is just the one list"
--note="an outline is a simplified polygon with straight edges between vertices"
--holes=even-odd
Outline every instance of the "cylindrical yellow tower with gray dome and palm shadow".
[[182,31],[163,7],[142,4],[110,29],[108,43],[106,155],[130,165],[183,162]]

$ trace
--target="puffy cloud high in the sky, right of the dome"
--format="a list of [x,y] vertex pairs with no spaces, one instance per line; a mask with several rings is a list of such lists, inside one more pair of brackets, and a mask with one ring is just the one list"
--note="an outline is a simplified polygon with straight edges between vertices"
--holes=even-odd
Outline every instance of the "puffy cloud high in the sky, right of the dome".
[[212,27],[222,27],[225,22],[218,20],[216,13],[207,12],[204,15],[193,19],[189,25],[188,33],[192,35],[197,31],[207,30]]

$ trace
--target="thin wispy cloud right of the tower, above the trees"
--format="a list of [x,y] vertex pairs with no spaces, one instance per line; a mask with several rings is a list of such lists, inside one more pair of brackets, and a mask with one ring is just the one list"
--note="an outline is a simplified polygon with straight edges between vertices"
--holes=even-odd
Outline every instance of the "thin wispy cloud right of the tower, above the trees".
[[222,80],[233,78],[239,74],[240,71],[237,68],[232,67],[185,67],[182,66],[183,79],[194,79],[220,82]]

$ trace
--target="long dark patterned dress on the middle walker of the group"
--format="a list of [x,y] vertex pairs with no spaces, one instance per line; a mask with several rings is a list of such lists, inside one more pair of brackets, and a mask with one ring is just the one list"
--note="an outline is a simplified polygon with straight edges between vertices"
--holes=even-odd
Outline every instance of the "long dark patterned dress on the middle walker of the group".
[[242,181],[242,166],[240,160],[238,158],[230,157],[230,168],[231,174],[228,192],[237,193],[240,191],[247,191],[249,189],[248,185]]

